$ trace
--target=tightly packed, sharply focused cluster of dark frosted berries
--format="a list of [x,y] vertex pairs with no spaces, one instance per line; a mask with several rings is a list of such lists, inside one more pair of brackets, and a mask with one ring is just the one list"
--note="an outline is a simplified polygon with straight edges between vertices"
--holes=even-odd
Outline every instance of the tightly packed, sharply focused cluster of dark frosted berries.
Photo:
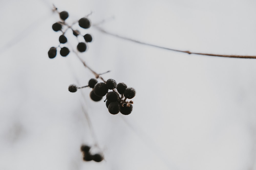
[[[132,112],[132,101],[126,101],[126,99],[132,99],[136,92],[132,87],[128,87],[125,83],[116,83],[113,79],[108,79],[105,82],[98,82],[96,79],[90,79],[87,86],[91,87],[90,98],[93,101],[100,101],[106,96],[106,107],[111,114],[118,114],[121,112],[124,115],[128,115]],[[76,85],[70,85],[68,90],[72,93],[76,92],[78,88]],[[112,91],[109,91],[112,90]]]

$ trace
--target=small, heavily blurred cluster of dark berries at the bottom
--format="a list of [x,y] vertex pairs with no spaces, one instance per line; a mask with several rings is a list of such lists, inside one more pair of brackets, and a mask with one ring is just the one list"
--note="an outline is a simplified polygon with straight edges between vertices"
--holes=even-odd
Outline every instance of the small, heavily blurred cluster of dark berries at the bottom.
[[95,161],[95,162],[101,162],[104,157],[102,154],[100,153],[96,153],[96,154],[91,154],[90,153],[90,146],[87,145],[82,145],[81,146],[81,152],[83,153],[83,160],[84,161]]

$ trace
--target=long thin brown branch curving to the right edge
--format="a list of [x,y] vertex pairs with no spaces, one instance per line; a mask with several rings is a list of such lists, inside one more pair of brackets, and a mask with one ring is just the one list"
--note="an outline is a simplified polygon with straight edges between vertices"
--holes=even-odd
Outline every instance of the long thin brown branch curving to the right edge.
[[132,41],[132,42],[135,42],[135,43],[138,43],[138,44],[144,44],[144,45],[148,45],[148,46],[152,46],[152,47],[156,47],[156,48],[162,48],[162,49],[171,50],[171,51],[177,51],[177,52],[182,52],[182,53],[187,53],[187,54],[204,55],[204,56],[231,57],[231,58],[255,58],[255,59],[256,59],[256,56],[208,54],[208,53],[195,53],[195,52],[190,52],[190,51],[188,51],[188,50],[186,50],[186,51],[177,50],[177,49],[162,47],[162,46],[158,46],[158,45],[154,45],[154,44],[149,44],[149,43],[137,41],[137,40],[134,40],[134,39],[132,39],[132,38],[127,38],[127,37],[124,37],[124,36],[120,36],[120,35],[117,35],[117,34],[108,32],[108,31],[102,29],[101,27],[98,27],[97,25],[93,25],[93,27],[96,28],[98,31],[101,31],[101,32],[103,32],[103,33],[105,33],[105,34],[108,34],[108,35],[112,35],[112,36],[121,38],[121,39],[123,39],[123,40],[128,40],[128,41]]

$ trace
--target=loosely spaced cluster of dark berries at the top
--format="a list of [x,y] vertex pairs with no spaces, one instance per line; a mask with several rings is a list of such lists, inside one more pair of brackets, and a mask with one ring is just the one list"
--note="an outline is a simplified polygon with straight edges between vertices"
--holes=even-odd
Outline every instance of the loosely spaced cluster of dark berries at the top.
[[[57,11],[57,9],[56,9],[56,11]],[[54,23],[52,25],[52,29],[56,32],[57,31],[62,32],[62,34],[59,36],[59,42],[60,42],[60,45],[61,45],[61,44],[65,44],[68,41],[67,37],[65,36],[65,32],[63,31],[63,27],[66,27],[67,29],[69,29],[69,28],[72,29],[72,27],[65,22],[65,20],[69,16],[67,11],[59,12],[59,16],[60,16],[61,20]],[[79,19],[78,24],[81,28],[84,28],[84,29],[87,29],[87,28],[91,27],[91,21],[88,18],[85,18],[85,17]],[[73,30],[72,29],[72,31],[73,31],[73,35],[76,36],[76,37],[81,35],[79,30]],[[77,45],[77,50],[79,52],[86,51],[86,48],[87,48],[86,43],[92,42],[92,36],[90,34],[83,35],[83,38],[84,38],[85,42],[79,42],[78,45]],[[60,45],[58,47],[60,47]],[[55,58],[56,57],[58,47],[51,47],[49,49],[49,51],[48,51],[49,58]],[[61,56],[66,57],[69,54],[69,52],[70,52],[70,50],[69,50],[68,47],[60,47],[60,55]]]

